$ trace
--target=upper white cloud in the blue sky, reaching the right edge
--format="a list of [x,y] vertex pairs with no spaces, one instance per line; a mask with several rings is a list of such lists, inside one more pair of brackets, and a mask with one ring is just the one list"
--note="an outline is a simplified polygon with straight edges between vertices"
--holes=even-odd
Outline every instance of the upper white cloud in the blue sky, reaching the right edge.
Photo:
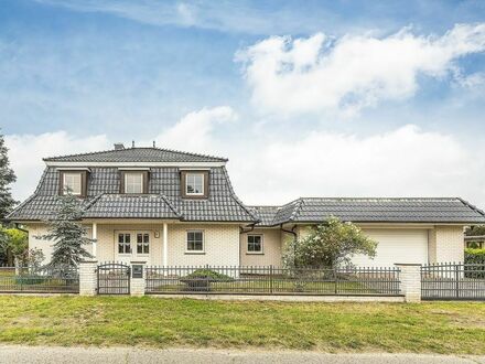
[[485,23],[457,24],[442,36],[414,35],[409,29],[386,36],[323,33],[292,40],[272,36],[239,51],[252,101],[281,115],[358,113],[381,100],[416,94],[418,76],[459,73],[456,61],[485,51]]

